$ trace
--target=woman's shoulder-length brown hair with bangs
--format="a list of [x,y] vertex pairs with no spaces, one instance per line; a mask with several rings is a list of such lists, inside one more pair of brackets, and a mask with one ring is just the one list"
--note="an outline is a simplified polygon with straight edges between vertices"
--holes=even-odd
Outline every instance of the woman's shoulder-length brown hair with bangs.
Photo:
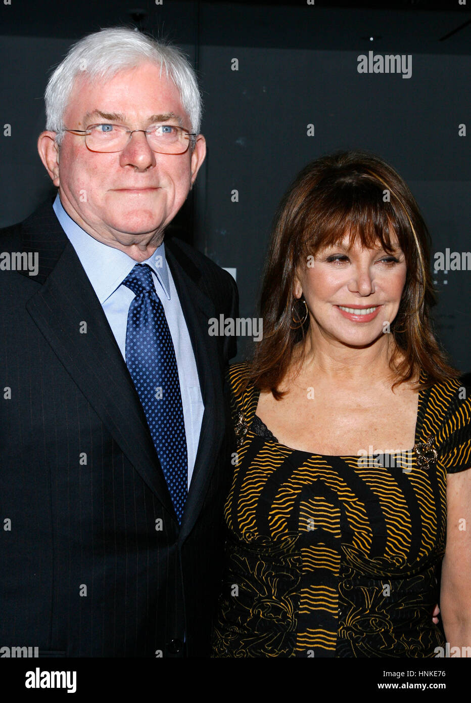
[[296,271],[348,232],[351,244],[373,248],[379,242],[387,253],[397,241],[406,259],[406,283],[390,325],[392,387],[418,378],[420,370],[428,375],[423,387],[457,378],[432,328],[430,235],[416,200],[380,157],[344,151],[308,164],[281,200],[260,295],[263,338],[256,344],[247,385],[271,390],[276,399],[283,395],[279,384],[309,326],[309,315],[303,325],[295,324],[305,316],[303,302],[293,293]]

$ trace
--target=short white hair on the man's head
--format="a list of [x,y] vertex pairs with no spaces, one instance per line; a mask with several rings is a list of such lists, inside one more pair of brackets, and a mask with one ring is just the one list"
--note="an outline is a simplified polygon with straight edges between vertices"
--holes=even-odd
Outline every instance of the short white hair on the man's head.
[[112,79],[121,70],[150,61],[160,67],[166,79],[180,91],[183,108],[190,117],[192,132],[199,134],[202,101],[197,77],[183,51],[147,37],[128,27],[110,27],[88,34],[69,49],[67,56],[55,69],[46,87],[46,129],[57,132],[60,144],[64,113],[77,77],[86,76],[91,82]]

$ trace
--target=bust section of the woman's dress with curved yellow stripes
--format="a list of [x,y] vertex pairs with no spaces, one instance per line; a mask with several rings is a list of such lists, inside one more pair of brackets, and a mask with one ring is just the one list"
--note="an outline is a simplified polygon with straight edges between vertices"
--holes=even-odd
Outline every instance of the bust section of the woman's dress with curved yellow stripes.
[[272,544],[297,535],[305,555],[342,553],[372,573],[434,561],[444,549],[446,476],[436,465],[419,466],[415,455],[406,465],[384,459],[310,456],[249,432],[225,506],[227,525],[242,541],[255,540],[254,548],[258,539]]

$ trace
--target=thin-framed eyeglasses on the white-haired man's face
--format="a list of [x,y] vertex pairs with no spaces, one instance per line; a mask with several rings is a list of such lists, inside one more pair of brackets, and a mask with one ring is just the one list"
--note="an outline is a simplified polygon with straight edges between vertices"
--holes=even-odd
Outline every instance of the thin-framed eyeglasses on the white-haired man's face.
[[124,124],[91,124],[86,129],[67,129],[72,134],[85,137],[88,149],[98,152],[122,151],[135,131],[147,135],[152,151],[159,154],[183,154],[194,141],[196,134],[175,124],[151,124],[147,129],[128,129]]

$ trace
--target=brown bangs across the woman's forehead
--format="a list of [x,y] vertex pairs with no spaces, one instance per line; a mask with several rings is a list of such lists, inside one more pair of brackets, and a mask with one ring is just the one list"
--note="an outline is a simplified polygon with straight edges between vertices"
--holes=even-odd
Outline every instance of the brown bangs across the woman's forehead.
[[320,195],[314,191],[303,203],[305,253],[336,247],[343,243],[345,236],[349,237],[349,247],[359,245],[374,249],[381,246],[388,254],[398,246],[404,252],[408,250],[404,214],[400,208],[397,212],[391,202],[384,202],[383,190],[376,183],[344,183],[341,187],[337,183],[335,193],[322,185],[319,184]]

